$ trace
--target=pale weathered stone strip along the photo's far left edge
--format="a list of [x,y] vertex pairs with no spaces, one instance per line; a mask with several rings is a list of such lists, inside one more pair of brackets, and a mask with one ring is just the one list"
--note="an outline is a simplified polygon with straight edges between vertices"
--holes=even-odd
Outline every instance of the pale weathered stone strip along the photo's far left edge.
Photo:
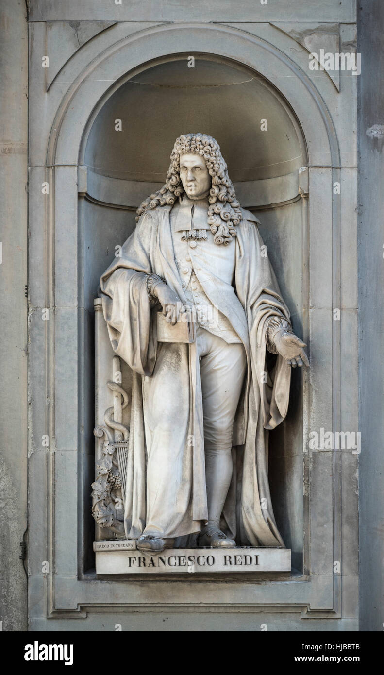
[[28,300],[27,72],[24,1],[5,0],[0,22],[0,620],[26,630]]

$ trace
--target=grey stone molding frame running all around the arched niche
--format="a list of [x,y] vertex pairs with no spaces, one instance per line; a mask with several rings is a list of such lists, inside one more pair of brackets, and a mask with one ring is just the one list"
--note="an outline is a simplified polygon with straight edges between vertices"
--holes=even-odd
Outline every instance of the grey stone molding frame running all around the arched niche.
[[[30,164],[36,170],[32,180],[36,185],[40,184],[40,179],[47,180],[51,186],[47,206],[45,201],[30,197],[30,276],[32,290],[36,289],[36,296],[32,294],[31,300],[32,315],[39,311],[40,306],[53,308],[52,319],[45,327],[47,351],[45,353],[45,350],[32,348],[30,354],[32,399],[40,398],[45,388],[45,379],[42,381],[41,376],[37,375],[40,372],[47,373],[49,400],[49,404],[45,401],[43,407],[38,402],[32,404],[30,453],[34,456],[34,461],[30,467],[30,508],[34,515],[30,534],[36,537],[36,541],[32,545],[30,587],[31,593],[38,593],[41,598],[40,604],[35,603],[32,608],[32,616],[82,618],[86,616],[86,612],[101,609],[108,611],[111,606],[115,609],[140,607],[140,611],[151,611],[150,607],[159,607],[156,599],[161,597],[161,593],[166,595],[163,582],[156,582],[156,587],[148,582],[148,586],[142,588],[140,584],[130,580],[119,583],[119,602],[115,603],[113,581],[101,582],[97,578],[84,576],[84,526],[78,522],[77,517],[78,488],[76,486],[72,490],[74,512],[70,513],[65,512],[60,491],[61,475],[73,477],[78,473],[81,478],[83,470],[81,456],[79,458],[75,450],[79,442],[81,445],[78,426],[81,426],[82,398],[80,396],[78,399],[78,387],[82,378],[81,361],[84,350],[84,346],[80,345],[78,351],[78,296],[81,290],[82,261],[78,259],[75,269],[73,266],[74,250],[77,250],[78,238],[81,236],[81,229],[78,232],[78,165],[82,165],[86,139],[94,117],[113,91],[131,77],[132,73],[136,74],[145,68],[148,60],[159,63],[167,60],[169,54],[185,54],[187,51],[207,53],[207,45],[211,45],[213,58],[233,59],[239,63],[246,61],[248,68],[257,69],[260,74],[269,77],[273,86],[278,84],[281,101],[285,99],[290,109],[295,111],[295,114],[291,114],[296,121],[298,134],[302,138],[303,147],[308,147],[310,196],[313,197],[313,203],[315,198],[325,200],[325,213],[330,218],[324,223],[326,236],[323,241],[317,240],[312,228],[319,227],[321,220],[315,211],[311,211],[311,203],[308,206],[308,200],[303,199],[303,209],[306,209],[303,229],[303,339],[306,342],[309,336],[314,338],[317,327],[324,322],[331,344],[331,360],[327,362],[323,375],[315,367],[311,375],[314,378],[312,381],[309,381],[308,376],[304,377],[304,575],[292,576],[288,582],[275,577],[273,583],[252,586],[246,581],[238,580],[231,585],[229,593],[225,593],[226,599],[220,603],[217,603],[217,582],[199,579],[192,585],[180,583],[175,587],[173,599],[169,603],[161,603],[161,607],[172,607],[175,611],[180,611],[180,607],[188,607],[193,611],[197,604],[203,611],[211,611],[213,607],[221,607],[223,611],[231,611],[234,607],[241,607],[241,611],[252,611],[251,608],[256,607],[273,607],[275,611],[290,608],[300,612],[303,618],[337,618],[341,616],[341,575],[333,573],[332,564],[334,560],[341,560],[341,451],[319,451],[310,456],[308,425],[313,426],[324,418],[321,417],[323,406],[331,425],[329,428],[341,428],[341,329],[340,322],[332,320],[332,308],[341,304],[340,207],[331,190],[329,197],[322,194],[324,187],[340,180],[337,134],[322,94],[327,97],[330,90],[333,97],[338,94],[333,84],[326,80],[321,83],[321,93],[303,68],[290,56],[246,30],[222,24],[161,24],[121,37],[121,26],[123,24],[112,26],[105,33],[111,40],[108,47],[95,55],[97,43],[102,39],[99,35],[95,36],[70,59],[70,72],[65,68],[55,78],[49,92],[49,97],[52,97],[49,107],[52,123],[49,141],[45,146],[46,167],[39,165],[38,153],[41,148],[36,148],[36,155],[32,152],[30,157]],[[278,32],[277,29],[274,30]],[[116,42],[113,41],[115,34],[119,34]],[[88,61],[84,63],[86,55]],[[32,81],[38,72],[36,68],[41,70],[39,58],[40,52],[35,46],[31,57]],[[105,78],[105,72],[111,73],[111,79]],[[41,105],[38,99],[32,99],[32,118],[38,117]],[[63,211],[67,214],[65,218]],[[316,250],[312,250],[312,243],[308,238],[308,217]],[[38,229],[35,225],[38,221],[46,224]],[[70,229],[68,222],[72,223]],[[37,290],[41,269],[36,267],[35,254],[38,255],[37,259],[47,263],[46,291],[41,300]],[[311,298],[311,284],[316,282],[320,274],[314,259],[322,254],[331,255],[331,277],[327,279],[326,297],[316,296],[315,293],[314,298]],[[69,283],[68,265],[72,270]],[[314,265],[312,281],[308,277],[308,265]],[[38,331],[37,319],[36,325],[32,325],[31,329],[32,333]],[[325,346],[324,343],[320,347]],[[65,359],[67,363],[65,375],[60,367],[61,359]],[[67,389],[64,396],[65,377],[72,377],[72,396]],[[312,395],[310,398],[310,387],[321,389],[327,377],[330,377],[331,384],[326,387],[326,391],[323,394],[318,391],[317,398]],[[331,392],[331,402],[325,396],[327,391]],[[324,398],[327,398],[326,402]],[[46,417],[49,431],[40,433],[43,426],[38,420]],[[72,421],[70,425],[68,420]],[[79,423],[75,424],[74,420],[79,420]],[[50,452],[42,452],[36,445],[36,438],[43,433],[49,433],[52,439]],[[62,440],[64,438],[65,442]],[[39,475],[43,475],[47,481],[47,493],[42,489],[41,481],[38,481]],[[326,543],[322,547],[314,534],[314,514],[321,502],[324,475],[330,476],[327,485],[331,485],[331,504],[324,508],[330,514],[333,526],[332,532],[324,533]],[[45,513],[46,508],[47,517],[43,520],[40,518],[37,525],[36,514],[40,510]],[[81,511],[82,503],[79,508]],[[74,545],[60,541],[59,532],[64,521],[67,522],[67,527],[77,533]],[[319,537],[319,532],[317,536]],[[42,547],[47,550],[47,559],[55,561],[55,571],[46,580],[41,576],[36,562],[41,558]],[[197,597],[199,601],[196,601]]]

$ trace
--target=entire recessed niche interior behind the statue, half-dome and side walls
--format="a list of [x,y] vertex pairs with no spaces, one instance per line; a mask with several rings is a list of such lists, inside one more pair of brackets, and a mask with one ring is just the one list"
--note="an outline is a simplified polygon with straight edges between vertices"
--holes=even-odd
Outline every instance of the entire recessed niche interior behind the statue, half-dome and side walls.
[[[79,198],[84,271],[80,284],[84,306],[83,570],[94,565],[90,516],[93,300],[115,246],[133,232],[135,207],[165,181],[178,135],[200,131],[219,141],[242,206],[261,221],[260,234],[290,307],[294,331],[302,335],[303,223],[301,202],[294,198],[298,168],[305,164],[305,157],[294,114],[271,84],[240,64],[202,55],[195,60],[195,68],[188,69],[186,57],[170,59],[148,66],[107,99],[94,119],[84,153],[89,180],[88,194]],[[260,129],[260,120],[265,118],[267,132]],[[121,132],[115,131],[116,119],[121,119]],[[292,564],[302,570],[302,382],[298,372],[292,377],[287,419],[269,438],[273,509],[285,545],[292,548]]]

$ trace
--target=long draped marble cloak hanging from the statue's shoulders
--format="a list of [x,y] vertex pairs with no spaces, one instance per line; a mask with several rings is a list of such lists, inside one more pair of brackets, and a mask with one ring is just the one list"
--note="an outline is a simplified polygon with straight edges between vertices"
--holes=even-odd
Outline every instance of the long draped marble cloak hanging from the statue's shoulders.
[[[138,538],[145,529],[158,537],[181,537],[177,541],[185,545],[186,535],[198,533],[207,521],[199,360],[196,343],[157,342],[159,307],[150,307],[146,289],[146,275],[155,273],[188,304],[173,253],[170,211],[170,206],[144,211],[121,257],[102,275],[101,297],[113,350],[133,371],[126,536]],[[234,472],[221,529],[241,545],[276,547],[284,544],[269,492],[268,433],[287,413],[291,369],[279,354],[267,358],[266,331],[271,317],[289,321],[290,313],[261,248],[257,219],[244,209],[242,215],[231,242],[236,246],[231,286],[218,269],[207,267],[204,243],[192,264],[246,350],[233,429]]]

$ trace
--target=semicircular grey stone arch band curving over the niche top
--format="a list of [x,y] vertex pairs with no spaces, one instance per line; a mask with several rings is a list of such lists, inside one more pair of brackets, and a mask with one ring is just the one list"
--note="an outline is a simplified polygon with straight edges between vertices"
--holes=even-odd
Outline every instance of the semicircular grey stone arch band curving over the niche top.
[[[109,35],[113,36],[113,30]],[[92,41],[93,47],[97,40]],[[81,161],[90,122],[107,98],[126,79],[147,68],[149,61],[159,63],[177,53],[210,53],[259,72],[295,111],[306,138],[309,165],[339,167],[337,137],[327,106],[297,63],[249,32],[222,24],[189,23],[140,30],[111,44],[83,67],[57,109],[47,146],[47,165],[74,165]],[[80,59],[80,55],[73,59]],[[57,76],[53,90],[61,85],[66,71]],[[275,84],[277,80],[279,86]]]

